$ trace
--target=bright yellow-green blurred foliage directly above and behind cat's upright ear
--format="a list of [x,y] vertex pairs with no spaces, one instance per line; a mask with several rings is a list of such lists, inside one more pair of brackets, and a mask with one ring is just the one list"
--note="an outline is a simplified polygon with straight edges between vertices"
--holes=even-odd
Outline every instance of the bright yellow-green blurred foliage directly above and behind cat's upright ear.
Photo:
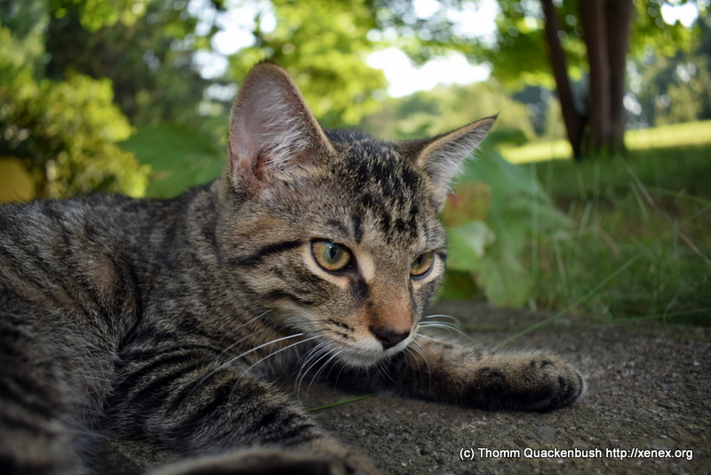
[[378,104],[373,92],[385,87],[382,72],[365,62],[376,28],[367,0],[273,0],[276,28],[253,31],[255,44],[231,58],[232,75],[242,78],[259,60],[274,60],[300,86],[326,126],[357,125]]

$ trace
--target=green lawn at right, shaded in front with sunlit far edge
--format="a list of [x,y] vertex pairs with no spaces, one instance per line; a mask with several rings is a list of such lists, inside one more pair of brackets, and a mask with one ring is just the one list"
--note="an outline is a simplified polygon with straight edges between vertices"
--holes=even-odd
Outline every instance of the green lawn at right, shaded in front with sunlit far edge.
[[[574,303],[605,320],[711,325],[711,121],[626,140],[626,157],[520,160],[574,222],[531,243],[531,302]],[[529,145],[517,157],[546,147],[559,146]]]

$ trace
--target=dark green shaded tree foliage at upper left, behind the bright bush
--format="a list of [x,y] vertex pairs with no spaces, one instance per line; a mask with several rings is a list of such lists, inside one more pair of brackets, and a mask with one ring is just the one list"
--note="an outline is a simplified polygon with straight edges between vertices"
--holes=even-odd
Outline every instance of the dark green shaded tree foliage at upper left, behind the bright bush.
[[198,105],[211,82],[196,70],[194,56],[209,46],[214,31],[196,35],[197,20],[186,14],[186,5],[182,0],[53,0],[44,35],[51,58],[46,76],[61,80],[76,71],[110,78],[116,104],[133,125],[199,125]]

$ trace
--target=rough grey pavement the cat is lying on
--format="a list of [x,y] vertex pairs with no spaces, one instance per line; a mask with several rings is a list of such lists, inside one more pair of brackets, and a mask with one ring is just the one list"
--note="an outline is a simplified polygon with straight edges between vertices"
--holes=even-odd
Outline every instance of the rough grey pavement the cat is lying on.
[[[475,342],[495,344],[547,318],[528,310],[443,302]],[[711,473],[711,328],[600,325],[562,318],[506,345],[554,350],[585,376],[575,405],[547,413],[485,412],[379,395],[316,419],[384,473]],[[306,407],[356,394],[316,386]],[[108,472],[156,458],[109,444]],[[578,451],[577,453],[575,451]],[[639,452],[633,453],[634,450]],[[562,451],[572,451],[562,452]]]

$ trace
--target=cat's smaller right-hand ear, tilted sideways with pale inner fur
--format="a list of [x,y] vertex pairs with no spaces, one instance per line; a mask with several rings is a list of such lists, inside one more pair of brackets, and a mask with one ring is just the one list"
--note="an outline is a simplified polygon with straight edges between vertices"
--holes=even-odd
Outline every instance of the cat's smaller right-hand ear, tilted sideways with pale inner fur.
[[486,117],[450,133],[407,144],[415,163],[432,181],[440,205],[444,204],[452,179],[461,172],[464,161],[479,148],[495,122],[496,117]]

